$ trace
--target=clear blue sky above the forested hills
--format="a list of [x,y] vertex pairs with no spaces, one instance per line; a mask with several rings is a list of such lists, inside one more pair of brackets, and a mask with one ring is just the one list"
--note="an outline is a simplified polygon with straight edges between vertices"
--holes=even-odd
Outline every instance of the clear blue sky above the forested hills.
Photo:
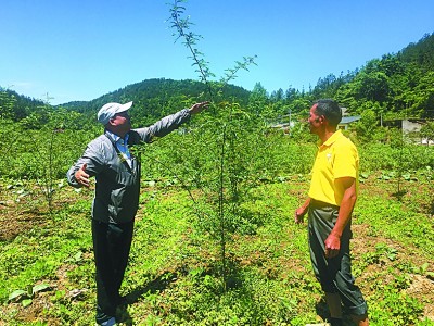
[[[0,10],[0,86],[59,104],[149,78],[199,79],[167,18],[170,0],[14,0]],[[308,89],[434,32],[433,0],[190,0],[216,79],[243,57],[257,66],[232,84]]]

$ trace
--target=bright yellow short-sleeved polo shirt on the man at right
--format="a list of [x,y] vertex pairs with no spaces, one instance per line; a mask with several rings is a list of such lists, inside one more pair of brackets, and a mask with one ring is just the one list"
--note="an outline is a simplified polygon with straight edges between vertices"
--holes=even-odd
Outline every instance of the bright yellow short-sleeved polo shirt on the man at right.
[[315,159],[309,197],[333,205],[341,205],[344,189],[334,180],[341,177],[356,179],[358,191],[359,154],[356,146],[341,130],[322,143]]

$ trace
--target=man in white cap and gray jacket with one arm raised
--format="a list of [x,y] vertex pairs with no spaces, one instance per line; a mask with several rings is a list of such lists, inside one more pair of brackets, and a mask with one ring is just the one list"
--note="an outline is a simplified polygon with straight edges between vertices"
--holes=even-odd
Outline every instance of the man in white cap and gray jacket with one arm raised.
[[97,323],[116,325],[116,308],[123,304],[119,288],[127,267],[133,222],[139,208],[140,161],[129,147],[163,137],[200,113],[208,102],[196,103],[156,122],[131,129],[126,104],[107,103],[98,112],[104,135],[88,143],[82,156],[66,174],[73,187],[89,187],[95,177],[92,203],[92,239],[97,266]]

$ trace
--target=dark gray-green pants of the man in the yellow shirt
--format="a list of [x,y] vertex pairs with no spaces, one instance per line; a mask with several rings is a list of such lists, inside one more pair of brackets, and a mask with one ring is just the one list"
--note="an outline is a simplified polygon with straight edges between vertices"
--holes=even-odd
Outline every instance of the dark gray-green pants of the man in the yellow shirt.
[[368,311],[360,289],[355,285],[349,258],[350,223],[341,237],[341,250],[337,256],[326,258],[326,239],[333,229],[339,214],[337,206],[311,201],[308,212],[308,231],[310,259],[315,276],[321,288],[328,293],[337,293],[347,313],[362,315]]

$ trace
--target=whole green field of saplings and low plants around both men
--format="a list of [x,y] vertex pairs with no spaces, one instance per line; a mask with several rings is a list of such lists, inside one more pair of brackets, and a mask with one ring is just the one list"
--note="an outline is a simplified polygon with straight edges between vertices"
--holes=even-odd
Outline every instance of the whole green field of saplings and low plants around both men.
[[[212,109],[133,148],[143,168],[120,325],[326,321],[293,217],[316,139],[303,124],[289,135],[239,105]],[[92,325],[94,180],[77,190],[65,173],[102,128],[2,126],[0,325]],[[434,147],[345,133],[361,160],[352,256],[371,325],[434,325]]]

